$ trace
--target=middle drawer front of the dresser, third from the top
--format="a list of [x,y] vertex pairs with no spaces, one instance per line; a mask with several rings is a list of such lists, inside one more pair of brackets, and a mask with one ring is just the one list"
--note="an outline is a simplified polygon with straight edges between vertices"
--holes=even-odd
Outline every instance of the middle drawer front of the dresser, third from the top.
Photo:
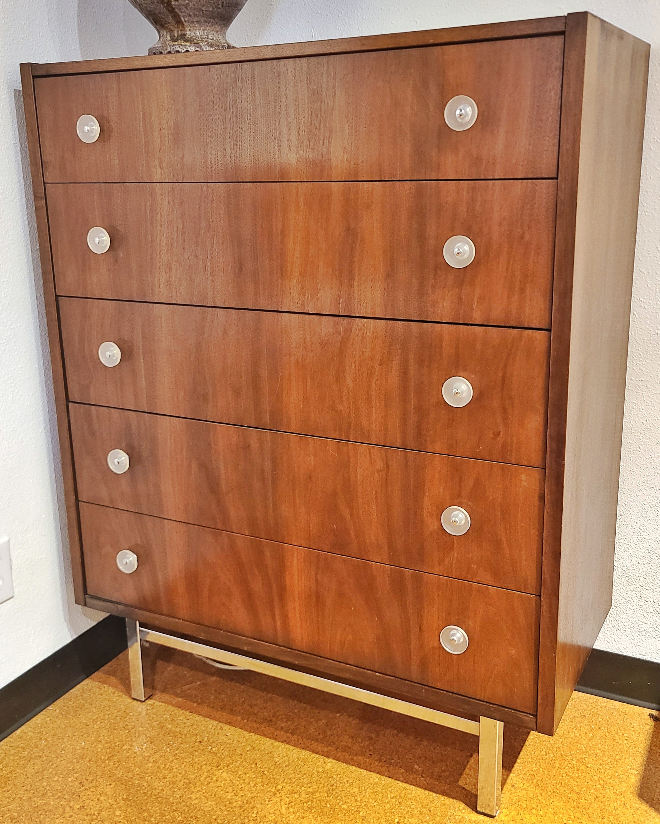
[[[60,298],[70,400],[543,466],[550,333]],[[99,345],[119,346],[108,368]],[[442,385],[461,376],[456,408]]]

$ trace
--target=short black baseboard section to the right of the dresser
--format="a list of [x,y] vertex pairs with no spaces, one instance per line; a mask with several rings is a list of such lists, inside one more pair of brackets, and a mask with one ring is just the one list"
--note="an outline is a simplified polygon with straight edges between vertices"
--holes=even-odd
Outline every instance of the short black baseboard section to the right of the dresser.
[[624,704],[660,709],[660,664],[593,649],[575,689]]

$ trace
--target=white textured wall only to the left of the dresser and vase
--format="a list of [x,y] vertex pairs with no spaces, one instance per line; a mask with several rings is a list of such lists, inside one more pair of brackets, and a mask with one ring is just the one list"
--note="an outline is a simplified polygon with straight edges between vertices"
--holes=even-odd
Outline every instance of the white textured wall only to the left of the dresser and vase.
[[124,0],[0,3],[0,535],[15,596],[0,604],[0,686],[87,630],[73,602],[18,64],[139,54],[153,29]]

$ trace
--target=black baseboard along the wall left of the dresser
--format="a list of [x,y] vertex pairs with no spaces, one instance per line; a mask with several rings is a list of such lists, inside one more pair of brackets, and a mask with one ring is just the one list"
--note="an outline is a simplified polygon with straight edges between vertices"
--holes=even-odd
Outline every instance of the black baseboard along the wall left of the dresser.
[[108,616],[0,689],[0,741],[126,648],[126,621]]

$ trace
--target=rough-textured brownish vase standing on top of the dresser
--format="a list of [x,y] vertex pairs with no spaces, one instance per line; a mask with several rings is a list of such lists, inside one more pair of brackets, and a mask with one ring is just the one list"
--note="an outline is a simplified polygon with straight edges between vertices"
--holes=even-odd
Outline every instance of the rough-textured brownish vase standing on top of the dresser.
[[231,49],[227,29],[247,0],[129,0],[158,32],[149,54]]

